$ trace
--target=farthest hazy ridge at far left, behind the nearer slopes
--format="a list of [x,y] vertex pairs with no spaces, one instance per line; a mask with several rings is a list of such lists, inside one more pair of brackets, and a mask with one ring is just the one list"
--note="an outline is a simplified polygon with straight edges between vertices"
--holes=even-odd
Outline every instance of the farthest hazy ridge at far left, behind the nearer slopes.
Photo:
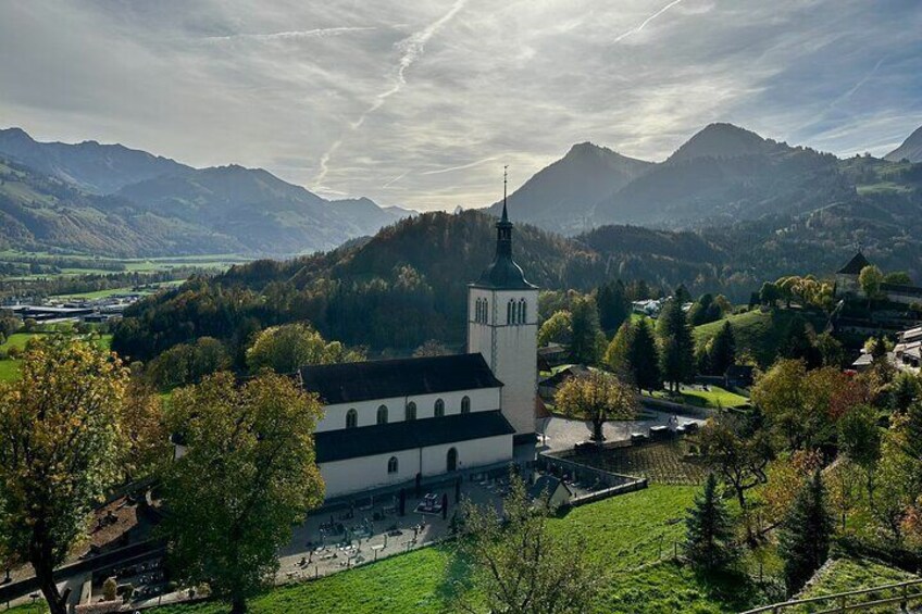
[[0,130],[0,155],[98,195],[165,173],[191,170],[169,158],[121,145],[38,142],[20,128]]

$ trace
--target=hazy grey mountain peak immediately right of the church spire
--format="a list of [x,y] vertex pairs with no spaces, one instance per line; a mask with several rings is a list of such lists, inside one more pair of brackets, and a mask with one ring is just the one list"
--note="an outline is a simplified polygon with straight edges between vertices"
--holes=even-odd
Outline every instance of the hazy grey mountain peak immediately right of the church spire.
[[[509,195],[509,214],[552,230],[580,231],[596,202],[652,166],[590,142],[574,145],[566,155]],[[499,215],[501,209],[499,201],[490,212]]]

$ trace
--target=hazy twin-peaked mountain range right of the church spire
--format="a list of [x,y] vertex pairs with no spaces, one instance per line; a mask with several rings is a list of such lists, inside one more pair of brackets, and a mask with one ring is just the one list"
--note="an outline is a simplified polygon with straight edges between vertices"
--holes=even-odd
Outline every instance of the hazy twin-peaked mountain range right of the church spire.
[[574,146],[512,192],[509,211],[571,235],[607,224],[687,229],[809,214],[856,198],[843,163],[830,153],[711,124],[661,163],[593,143]]

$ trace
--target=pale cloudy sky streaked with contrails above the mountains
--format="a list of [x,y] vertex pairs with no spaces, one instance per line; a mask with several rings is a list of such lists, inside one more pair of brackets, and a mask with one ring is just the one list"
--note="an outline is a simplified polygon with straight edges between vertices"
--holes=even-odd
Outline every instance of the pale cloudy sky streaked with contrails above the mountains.
[[922,125],[919,0],[0,0],[0,126],[481,206],[710,122],[838,154]]

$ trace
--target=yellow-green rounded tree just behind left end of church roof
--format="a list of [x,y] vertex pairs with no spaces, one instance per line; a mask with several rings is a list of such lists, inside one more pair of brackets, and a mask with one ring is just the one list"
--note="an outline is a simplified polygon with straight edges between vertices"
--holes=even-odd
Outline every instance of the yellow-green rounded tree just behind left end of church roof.
[[364,355],[347,350],[339,341],[327,342],[307,324],[284,324],[266,328],[247,350],[251,372],[269,367],[275,373],[295,373],[309,364],[354,362]]

